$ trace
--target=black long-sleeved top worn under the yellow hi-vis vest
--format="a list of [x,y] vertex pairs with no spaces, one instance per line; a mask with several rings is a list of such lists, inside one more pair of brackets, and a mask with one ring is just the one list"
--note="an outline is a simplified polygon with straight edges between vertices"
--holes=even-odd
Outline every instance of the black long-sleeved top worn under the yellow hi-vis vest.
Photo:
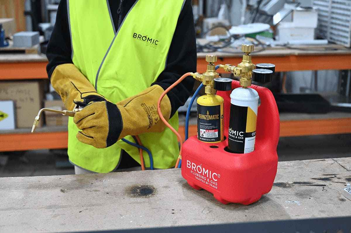
[[[123,21],[135,1],[136,0],[122,1],[120,14],[118,14],[120,0],[108,1],[116,30],[118,30],[119,22]],[[160,1],[160,4],[167,3]],[[61,0],[57,11],[56,23],[46,52],[46,56],[49,60],[46,70],[49,78],[56,66],[65,63],[73,63],[71,54],[72,48],[67,16],[67,1]],[[165,70],[152,85],[158,84],[163,89],[167,89],[186,72],[196,72],[196,39],[191,0],[186,0],[179,15],[176,30],[174,31],[171,46],[168,51]],[[193,89],[193,85],[194,79],[192,77],[187,77],[167,93],[171,102],[171,116],[174,115],[180,106],[184,105]]]

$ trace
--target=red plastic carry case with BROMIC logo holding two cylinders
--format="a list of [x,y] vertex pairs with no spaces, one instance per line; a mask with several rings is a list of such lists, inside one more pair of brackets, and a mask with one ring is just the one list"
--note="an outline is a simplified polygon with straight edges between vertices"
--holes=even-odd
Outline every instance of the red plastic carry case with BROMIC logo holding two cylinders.
[[[232,82],[232,89],[239,87]],[[255,150],[247,154],[225,150],[227,139],[221,143],[204,143],[197,136],[183,144],[181,174],[194,189],[205,189],[223,204],[249,205],[258,201],[273,186],[277,173],[279,112],[272,92],[252,85],[261,104],[257,113]],[[218,91],[224,98],[224,132],[228,137],[231,91]]]

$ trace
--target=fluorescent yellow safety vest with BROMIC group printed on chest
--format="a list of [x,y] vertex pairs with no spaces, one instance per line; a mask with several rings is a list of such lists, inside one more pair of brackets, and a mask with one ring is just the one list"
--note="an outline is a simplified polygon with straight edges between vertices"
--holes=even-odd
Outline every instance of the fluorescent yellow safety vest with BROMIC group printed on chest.
[[[157,80],[165,68],[185,0],[137,0],[115,34],[108,0],[67,1],[73,63],[98,93],[117,103]],[[169,123],[178,129],[178,113]],[[78,131],[70,117],[68,156],[73,164],[94,172],[110,172],[119,163],[121,149],[140,163],[139,151],[133,146],[118,141],[108,148],[97,149],[79,142],[75,137]],[[170,129],[139,136],[151,150],[155,168],[174,166],[179,148]],[[134,142],[131,136],[126,139]],[[147,153],[143,154],[145,166],[150,167]]]

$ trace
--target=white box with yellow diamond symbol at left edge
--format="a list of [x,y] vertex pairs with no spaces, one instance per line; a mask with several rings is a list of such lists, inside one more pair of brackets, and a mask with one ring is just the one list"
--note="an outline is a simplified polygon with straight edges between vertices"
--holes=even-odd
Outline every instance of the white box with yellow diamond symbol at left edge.
[[15,103],[13,100],[0,100],[0,130],[15,129]]

